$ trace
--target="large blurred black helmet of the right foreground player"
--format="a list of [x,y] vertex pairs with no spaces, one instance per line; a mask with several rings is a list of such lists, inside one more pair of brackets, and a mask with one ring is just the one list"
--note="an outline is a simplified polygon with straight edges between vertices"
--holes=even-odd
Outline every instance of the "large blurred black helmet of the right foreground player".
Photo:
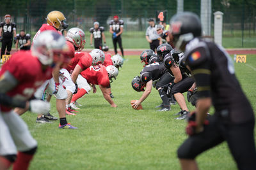
[[177,49],[182,51],[191,39],[202,36],[202,25],[195,13],[183,12],[174,15],[170,27],[173,43]]

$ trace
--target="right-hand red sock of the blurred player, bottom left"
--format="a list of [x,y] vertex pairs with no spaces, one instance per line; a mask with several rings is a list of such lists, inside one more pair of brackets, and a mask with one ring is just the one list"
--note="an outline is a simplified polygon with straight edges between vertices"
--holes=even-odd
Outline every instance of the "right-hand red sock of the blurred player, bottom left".
[[27,170],[34,155],[18,152],[17,160],[13,164],[13,170]]

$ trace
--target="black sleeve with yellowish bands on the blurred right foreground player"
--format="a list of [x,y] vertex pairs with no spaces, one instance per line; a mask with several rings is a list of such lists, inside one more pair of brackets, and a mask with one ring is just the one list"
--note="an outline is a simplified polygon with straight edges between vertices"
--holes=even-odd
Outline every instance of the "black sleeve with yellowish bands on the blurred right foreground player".
[[186,63],[195,78],[198,97],[211,96],[211,60],[208,49],[200,46],[192,50],[186,57]]

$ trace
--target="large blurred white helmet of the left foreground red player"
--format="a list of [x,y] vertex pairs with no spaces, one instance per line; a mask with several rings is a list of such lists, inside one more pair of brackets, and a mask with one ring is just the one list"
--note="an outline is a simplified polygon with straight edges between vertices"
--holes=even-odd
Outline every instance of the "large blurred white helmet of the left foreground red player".
[[44,31],[33,41],[32,54],[37,57],[43,65],[51,65],[52,62],[60,60],[60,54],[67,52],[66,39],[56,31]]

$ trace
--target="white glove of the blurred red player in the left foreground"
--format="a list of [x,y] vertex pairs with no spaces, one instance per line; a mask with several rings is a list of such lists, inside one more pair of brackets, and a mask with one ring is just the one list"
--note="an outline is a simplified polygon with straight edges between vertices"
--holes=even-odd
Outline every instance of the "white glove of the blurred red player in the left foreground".
[[47,114],[51,110],[51,104],[41,100],[29,101],[29,110],[33,113]]

